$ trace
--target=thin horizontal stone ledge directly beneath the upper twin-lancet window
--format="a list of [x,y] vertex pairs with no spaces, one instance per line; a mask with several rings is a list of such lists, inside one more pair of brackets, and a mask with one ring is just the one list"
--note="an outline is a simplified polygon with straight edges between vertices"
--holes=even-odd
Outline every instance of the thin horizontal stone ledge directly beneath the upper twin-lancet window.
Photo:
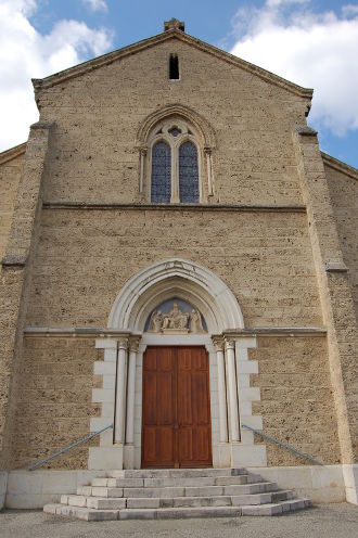
[[278,212],[306,213],[304,205],[255,205],[255,204],[116,204],[112,202],[43,202],[43,209],[74,210],[181,210],[181,212]]

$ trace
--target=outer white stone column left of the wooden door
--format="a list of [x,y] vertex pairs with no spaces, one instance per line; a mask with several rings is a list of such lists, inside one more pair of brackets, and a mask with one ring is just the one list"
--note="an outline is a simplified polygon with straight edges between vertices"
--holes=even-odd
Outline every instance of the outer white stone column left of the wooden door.
[[127,338],[118,341],[114,440],[115,443],[122,445],[124,444],[124,435],[125,435],[127,347],[128,347]]

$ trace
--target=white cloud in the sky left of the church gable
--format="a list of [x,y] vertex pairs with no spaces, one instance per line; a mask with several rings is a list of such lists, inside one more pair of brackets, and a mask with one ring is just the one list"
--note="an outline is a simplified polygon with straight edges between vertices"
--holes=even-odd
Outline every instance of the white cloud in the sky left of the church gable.
[[38,119],[30,79],[76,65],[112,47],[112,34],[84,22],[60,21],[48,35],[28,17],[36,0],[0,0],[0,151],[24,142]]

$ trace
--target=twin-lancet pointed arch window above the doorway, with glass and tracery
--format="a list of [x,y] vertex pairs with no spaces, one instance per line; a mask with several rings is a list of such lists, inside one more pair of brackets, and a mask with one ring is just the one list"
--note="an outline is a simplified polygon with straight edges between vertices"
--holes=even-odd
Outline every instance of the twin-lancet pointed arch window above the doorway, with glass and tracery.
[[197,204],[203,200],[202,145],[182,119],[157,125],[149,137],[146,177],[152,203]]

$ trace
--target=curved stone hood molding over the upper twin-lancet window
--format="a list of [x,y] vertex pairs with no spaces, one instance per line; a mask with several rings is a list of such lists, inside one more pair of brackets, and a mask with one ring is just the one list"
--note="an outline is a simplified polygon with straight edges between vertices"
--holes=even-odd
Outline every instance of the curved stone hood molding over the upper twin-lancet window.
[[210,151],[215,148],[215,132],[212,126],[196,112],[182,104],[170,104],[150,114],[138,130],[136,141],[137,148],[141,151],[145,151],[148,138],[153,127],[170,116],[183,118],[191,123],[203,138],[204,150]]

